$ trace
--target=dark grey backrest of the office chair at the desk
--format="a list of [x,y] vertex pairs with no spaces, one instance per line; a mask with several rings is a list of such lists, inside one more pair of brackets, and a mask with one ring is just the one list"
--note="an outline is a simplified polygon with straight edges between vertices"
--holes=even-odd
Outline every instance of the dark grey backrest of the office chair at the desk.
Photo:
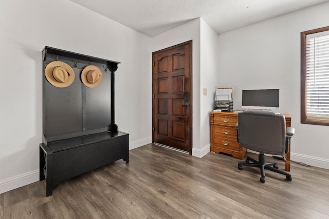
[[283,155],[286,147],[286,122],[282,114],[247,110],[237,114],[241,146],[261,153]]

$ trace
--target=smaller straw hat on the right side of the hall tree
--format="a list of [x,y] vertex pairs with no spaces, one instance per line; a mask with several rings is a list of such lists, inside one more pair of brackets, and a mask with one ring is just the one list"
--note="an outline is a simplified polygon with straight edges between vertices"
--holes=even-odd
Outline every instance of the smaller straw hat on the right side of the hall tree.
[[81,73],[82,83],[89,88],[95,88],[100,85],[102,78],[102,71],[94,65],[85,67]]

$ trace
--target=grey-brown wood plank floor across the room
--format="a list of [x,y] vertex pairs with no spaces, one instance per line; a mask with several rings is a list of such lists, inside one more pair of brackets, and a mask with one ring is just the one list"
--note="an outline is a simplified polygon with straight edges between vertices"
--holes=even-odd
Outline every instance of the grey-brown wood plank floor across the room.
[[329,170],[292,163],[293,181],[266,171],[262,184],[258,168],[238,162],[145,145],[129,164],[71,178],[52,196],[45,181],[0,194],[0,218],[329,218]]

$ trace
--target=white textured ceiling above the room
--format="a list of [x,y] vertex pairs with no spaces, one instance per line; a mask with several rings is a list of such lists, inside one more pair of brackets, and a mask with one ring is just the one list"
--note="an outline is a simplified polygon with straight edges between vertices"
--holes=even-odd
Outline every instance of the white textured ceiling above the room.
[[329,0],[69,0],[148,36],[202,17],[217,33]]

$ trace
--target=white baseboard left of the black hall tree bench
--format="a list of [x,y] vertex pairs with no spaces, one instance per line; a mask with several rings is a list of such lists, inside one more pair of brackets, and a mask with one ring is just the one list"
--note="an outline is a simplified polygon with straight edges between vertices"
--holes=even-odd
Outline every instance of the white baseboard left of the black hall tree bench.
[[0,194],[39,181],[39,169],[0,181]]

